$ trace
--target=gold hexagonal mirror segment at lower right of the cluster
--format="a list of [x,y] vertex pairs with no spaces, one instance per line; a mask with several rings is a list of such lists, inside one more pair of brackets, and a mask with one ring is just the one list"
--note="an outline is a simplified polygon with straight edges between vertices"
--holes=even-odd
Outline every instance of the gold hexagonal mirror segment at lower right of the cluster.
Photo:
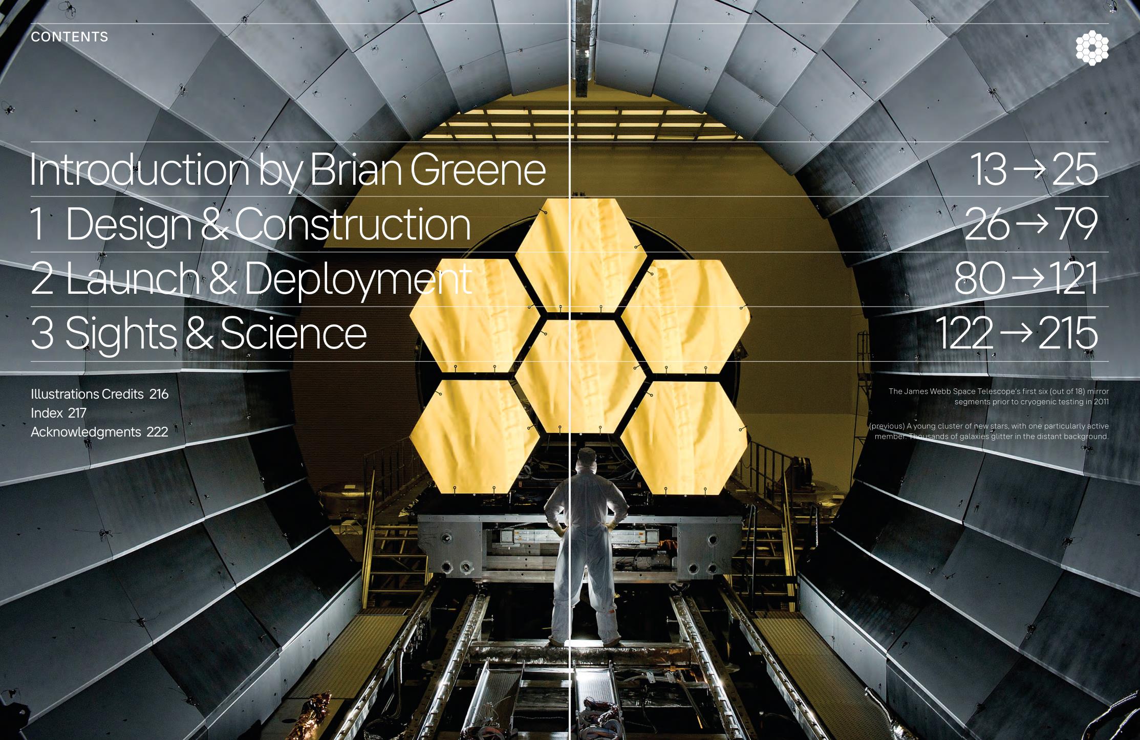
[[720,493],[748,446],[719,383],[656,381],[621,433],[653,494]]

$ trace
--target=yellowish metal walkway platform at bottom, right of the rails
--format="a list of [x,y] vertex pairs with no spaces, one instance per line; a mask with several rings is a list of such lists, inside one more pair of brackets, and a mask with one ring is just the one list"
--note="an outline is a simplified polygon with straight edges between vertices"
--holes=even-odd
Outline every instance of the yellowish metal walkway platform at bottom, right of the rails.
[[752,620],[834,740],[882,740],[887,723],[850,672],[799,612]]

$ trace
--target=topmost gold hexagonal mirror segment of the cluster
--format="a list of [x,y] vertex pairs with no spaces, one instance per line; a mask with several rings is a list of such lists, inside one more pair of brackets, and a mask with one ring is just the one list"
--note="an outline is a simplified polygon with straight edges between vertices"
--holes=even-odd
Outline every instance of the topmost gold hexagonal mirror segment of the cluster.
[[613,198],[551,198],[518,258],[546,310],[612,312],[645,253]]

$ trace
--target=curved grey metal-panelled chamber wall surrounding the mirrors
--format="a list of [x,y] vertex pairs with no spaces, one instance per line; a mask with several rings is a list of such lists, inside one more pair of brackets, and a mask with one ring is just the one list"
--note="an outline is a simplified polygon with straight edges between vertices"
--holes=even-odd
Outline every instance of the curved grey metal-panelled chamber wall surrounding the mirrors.
[[[1109,6],[600,3],[598,82],[708,109],[796,173],[829,218],[872,317],[874,423],[1010,421],[944,397],[893,397],[890,385],[1112,391],[1113,404],[1091,413],[1041,412],[1110,423],[1107,442],[869,440],[836,534],[804,566],[805,610],[925,738],[1075,737],[1134,688],[1140,350],[1130,317],[1140,308],[1140,235],[1130,198],[1140,177],[1140,22],[1126,3]],[[44,3],[39,22],[139,24],[109,26],[114,43],[33,43],[25,33],[0,79],[0,547],[11,563],[0,575],[0,681],[32,707],[30,738],[101,737],[111,726],[116,737],[179,738],[203,725],[211,738],[236,737],[272,711],[355,610],[355,594],[340,589],[351,563],[329,535],[315,534],[319,518],[290,430],[290,358],[185,347],[112,360],[65,348],[32,357],[26,301],[42,274],[31,269],[30,153],[380,161],[454,113],[564,84],[567,3],[106,0],[73,18],[64,8]],[[1081,66],[1073,38],[1086,29],[1044,21],[1107,24],[1096,27],[1112,58]],[[1053,143],[1066,140],[1099,141],[1098,161],[1113,168],[1088,188],[1031,173],[996,189],[974,185],[969,156],[983,143],[1010,162],[1051,164],[1068,146]],[[171,195],[88,184],[68,195],[90,196],[96,214],[141,208],[195,219],[210,204],[222,213],[343,211],[355,195],[314,185],[311,172],[300,190]],[[969,209],[1028,217],[1083,195],[1108,196],[1098,201],[1096,234],[1058,241],[1066,252],[1110,252],[1097,298],[1113,308],[1096,356],[1045,364],[1015,340],[968,361],[938,349],[934,318],[966,303],[947,276],[962,253],[991,253],[966,246]],[[256,269],[251,260],[279,269],[321,246],[185,241],[154,251],[65,242],[62,222],[48,219],[40,243],[67,244],[75,274],[182,261],[209,276],[223,260],[244,275]],[[1056,259],[1012,241],[1001,254],[1024,269]],[[246,322],[293,314],[204,292],[76,301],[57,290],[42,300],[57,307],[39,310],[57,318],[87,308],[103,320],[155,316],[184,327],[192,317],[217,322],[218,302]],[[1011,287],[954,310],[1028,323],[1049,300]],[[31,388],[123,387],[139,373],[168,400],[92,404],[90,413],[114,426],[145,409],[177,430],[172,439],[28,445]]]

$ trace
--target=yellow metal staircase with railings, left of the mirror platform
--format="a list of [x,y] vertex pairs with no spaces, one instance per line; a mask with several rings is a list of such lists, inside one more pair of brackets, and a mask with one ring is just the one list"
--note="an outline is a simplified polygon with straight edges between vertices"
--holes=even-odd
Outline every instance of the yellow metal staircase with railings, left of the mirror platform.
[[405,506],[427,485],[427,471],[405,437],[365,456],[368,517],[361,602],[368,608],[410,607],[431,579],[427,555]]

